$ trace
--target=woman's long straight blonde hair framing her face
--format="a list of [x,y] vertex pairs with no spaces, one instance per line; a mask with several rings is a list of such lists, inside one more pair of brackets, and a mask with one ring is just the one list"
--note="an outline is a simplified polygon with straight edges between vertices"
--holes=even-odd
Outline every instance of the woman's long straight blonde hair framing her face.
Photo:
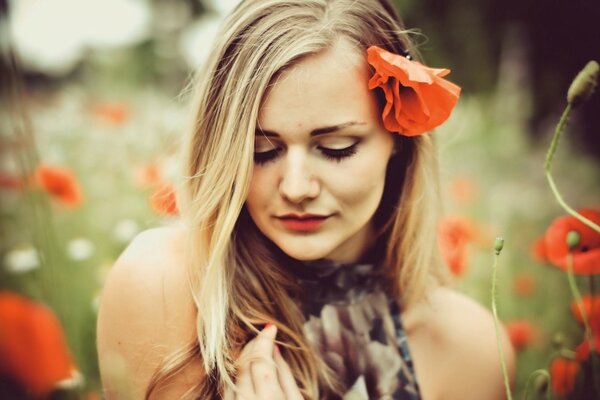
[[[222,396],[233,385],[241,348],[266,321],[279,328],[282,354],[304,398],[337,393],[335,377],[302,336],[304,317],[290,298],[297,288],[252,223],[244,201],[263,95],[281,71],[340,38],[357,52],[377,45],[414,54],[387,0],[245,0],[225,21],[197,76],[188,177],[180,196],[182,217],[189,223],[187,268],[199,310],[198,340],[165,361],[147,398],[196,358],[205,376],[189,397]],[[442,276],[434,240],[437,162],[429,135],[396,140],[402,149],[388,165],[375,223],[387,241],[390,290],[406,305]]]

